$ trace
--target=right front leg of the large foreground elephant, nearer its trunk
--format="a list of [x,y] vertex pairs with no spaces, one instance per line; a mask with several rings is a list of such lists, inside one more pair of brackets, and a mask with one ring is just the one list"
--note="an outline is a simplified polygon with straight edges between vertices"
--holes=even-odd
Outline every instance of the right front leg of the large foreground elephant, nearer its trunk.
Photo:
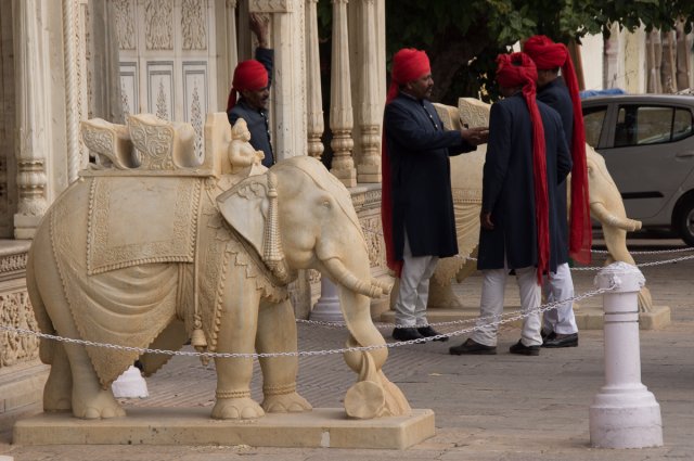
[[[288,299],[280,304],[262,304],[258,312],[258,353],[296,351],[296,319]],[[298,357],[282,356],[260,359],[262,369],[262,408],[270,413],[301,412],[311,405],[296,393]]]

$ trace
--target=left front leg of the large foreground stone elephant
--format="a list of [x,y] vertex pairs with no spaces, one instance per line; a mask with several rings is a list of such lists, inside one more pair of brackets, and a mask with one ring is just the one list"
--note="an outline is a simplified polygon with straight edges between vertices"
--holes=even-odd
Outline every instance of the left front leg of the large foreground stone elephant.
[[[222,299],[226,305],[219,323],[217,353],[255,353],[260,296],[245,271],[229,274]],[[213,418],[240,420],[265,415],[262,408],[250,398],[253,357],[215,358],[215,367],[217,392]]]

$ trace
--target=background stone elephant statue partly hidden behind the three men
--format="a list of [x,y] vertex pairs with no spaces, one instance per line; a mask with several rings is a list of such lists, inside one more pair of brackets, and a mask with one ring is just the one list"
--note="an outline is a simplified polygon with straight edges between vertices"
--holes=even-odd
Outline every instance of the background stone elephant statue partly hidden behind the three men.
[[[462,123],[470,126],[487,126],[489,104],[471,98],[461,98],[459,106],[434,104],[446,127],[460,129]],[[430,280],[430,308],[460,308],[462,303],[453,293],[451,281],[461,282],[476,270],[474,259],[479,240],[479,212],[481,209],[481,179],[486,145],[477,151],[451,157],[451,189],[455,213],[459,255],[439,261]],[[627,249],[627,231],[641,229],[641,222],[627,218],[621,195],[617,190],[603,157],[586,144],[590,209],[593,219],[601,222],[609,257],[606,265],[625,261],[634,265]],[[570,190],[570,189],[567,189]],[[570,197],[569,197],[570,199]],[[395,292],[395,290],[394,290]],[[395,297],[395,296],[393,296]],[[641,310],[652,310],[653,302],[647,287],[639,295]]]

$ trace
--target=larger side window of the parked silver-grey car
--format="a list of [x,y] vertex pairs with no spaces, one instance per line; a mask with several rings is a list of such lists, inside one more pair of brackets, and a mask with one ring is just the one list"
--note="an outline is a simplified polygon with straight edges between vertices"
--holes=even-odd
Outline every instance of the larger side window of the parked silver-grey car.
[[679,107],[624,104],[617,113],[615,148],[660,144],[692,135],[692,114]]

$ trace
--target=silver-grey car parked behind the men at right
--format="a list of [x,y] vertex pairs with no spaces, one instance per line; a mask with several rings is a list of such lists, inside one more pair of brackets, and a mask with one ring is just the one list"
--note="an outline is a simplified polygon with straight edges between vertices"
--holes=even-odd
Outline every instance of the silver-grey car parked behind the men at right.
[[593,97],[582,106],[586,141],[605,158],[627,216],[694,246],[694,97]]

